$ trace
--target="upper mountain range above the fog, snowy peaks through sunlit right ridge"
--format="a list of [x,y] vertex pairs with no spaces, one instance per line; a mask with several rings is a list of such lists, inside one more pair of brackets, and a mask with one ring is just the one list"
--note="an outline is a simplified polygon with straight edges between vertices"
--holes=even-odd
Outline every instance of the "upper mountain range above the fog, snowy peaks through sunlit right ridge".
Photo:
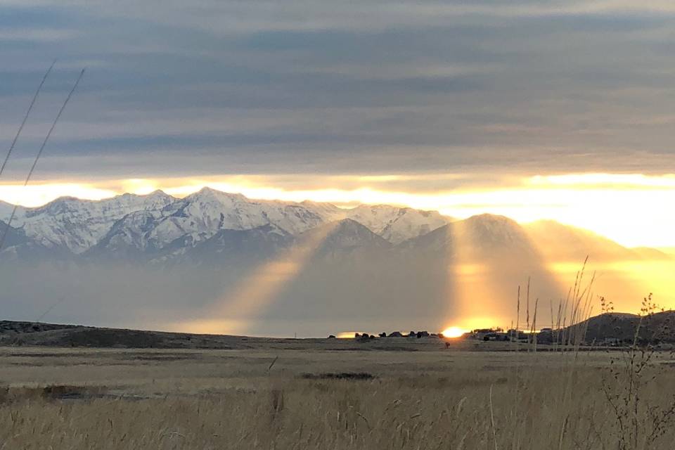
[[[6,225],[12,205],[0,204]],[[629,249],[589,231],[539,221],[521,226],[482,214],[455,221],[435,211],[389,205],[342,209],[329,203],[250,200],[211,188],[174,198],[162,191],[123,194],[105,200],[58,198],[41,207],[18,207],[2,259],[46,255],[74,260],[217,263],[242,255],[269,257],[316,229],[338,224],[324,252],[354,248],[468,253],[518,252],[546,259],[580,261],[663,257],[653,249]],[[467,252],[465,252],[467,253]],[[467,255],[464,255],[467,256]]]

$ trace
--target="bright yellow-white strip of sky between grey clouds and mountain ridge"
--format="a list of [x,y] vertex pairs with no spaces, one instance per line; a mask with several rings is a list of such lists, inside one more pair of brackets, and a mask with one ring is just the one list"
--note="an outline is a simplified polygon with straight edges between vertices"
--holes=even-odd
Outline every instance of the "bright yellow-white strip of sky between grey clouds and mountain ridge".
[[[437,188],[428,188],[436,185]],[[468,174],[252,174],[103,180],[89,184],[42,181],[27,188],[0,185],[0,200],[37,206],[62,195],[98,200],[124,192],[147,194],[156,189],[183,197],[204,186],[259,200],[311,200],[338,206],[401,205],[438,210],[457,219],[486,212],[521,223],[553,219],[600,233],[626,246],[675,246],[675,233],[671,232],[675,229],[675,214],[664,207],[675,198],[675,174],[505,176],[486,186],[473,184]]]

